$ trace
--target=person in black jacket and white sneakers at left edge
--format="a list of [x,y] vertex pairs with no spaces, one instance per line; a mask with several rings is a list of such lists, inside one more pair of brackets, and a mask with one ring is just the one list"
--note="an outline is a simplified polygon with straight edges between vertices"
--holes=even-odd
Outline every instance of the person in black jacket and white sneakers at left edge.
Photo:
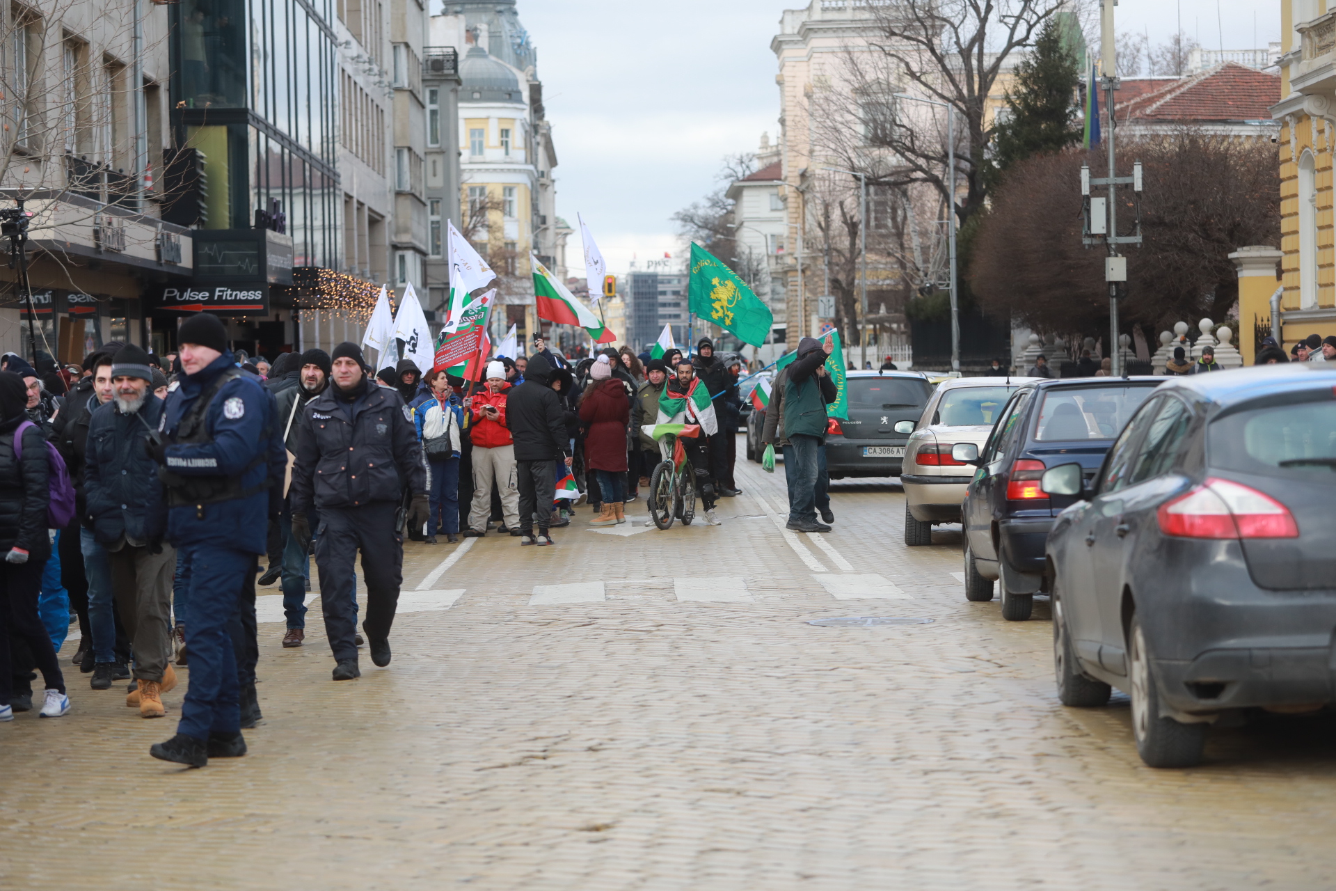
[[23,460],[15,457],[15,430],[28,419],[23,378],[0,371],[0,720],[11,720],[12,676],[32,665],[11,665],[9,635],[23,640],[47,683],[43,717],[69,711],[56,649],[37,614],[41,570],[51,556],[47,534],[47,442],[36,425],[23,430]]

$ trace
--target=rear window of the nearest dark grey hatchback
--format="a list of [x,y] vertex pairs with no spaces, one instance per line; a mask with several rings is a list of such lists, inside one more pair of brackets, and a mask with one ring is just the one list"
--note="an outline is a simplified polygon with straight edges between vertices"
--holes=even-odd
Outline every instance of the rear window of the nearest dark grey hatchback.
[[1206,431],[1208,462],[1221,470],[1331,482],[1336,473],[1336,401],[1293,402],[1228,414]]

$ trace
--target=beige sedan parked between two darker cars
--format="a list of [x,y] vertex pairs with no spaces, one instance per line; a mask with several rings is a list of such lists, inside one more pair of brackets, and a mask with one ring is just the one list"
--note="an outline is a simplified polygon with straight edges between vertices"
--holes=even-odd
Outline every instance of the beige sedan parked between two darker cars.
[[951,457],[957,442],[982,446],[1006,401],[1037,378],[950,378],[942,382],[918,423],[900,421],[912,435],[904,449],[904,544],[933,544],[933,525],[959,522],[961,502],[974,468]]

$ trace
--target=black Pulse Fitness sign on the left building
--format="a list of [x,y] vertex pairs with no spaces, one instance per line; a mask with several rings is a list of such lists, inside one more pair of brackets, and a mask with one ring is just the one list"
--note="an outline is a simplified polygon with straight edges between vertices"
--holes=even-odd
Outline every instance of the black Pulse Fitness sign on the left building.
[[269,315],[270,285],[293,283],[293,239],[266,228],[196,230],[194,278],[164,285],[158,309]]

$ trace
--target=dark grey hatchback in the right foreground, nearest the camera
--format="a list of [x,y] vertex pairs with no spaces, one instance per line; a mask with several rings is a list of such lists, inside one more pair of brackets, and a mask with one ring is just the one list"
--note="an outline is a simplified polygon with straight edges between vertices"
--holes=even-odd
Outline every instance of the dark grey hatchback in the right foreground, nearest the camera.
[[1079,498],[1046,548],[1065,705],[1126,691],[1142,760],[1189,767],[1220,717],[1336,700],[1336,369],[1173,378],[1041,485]]

